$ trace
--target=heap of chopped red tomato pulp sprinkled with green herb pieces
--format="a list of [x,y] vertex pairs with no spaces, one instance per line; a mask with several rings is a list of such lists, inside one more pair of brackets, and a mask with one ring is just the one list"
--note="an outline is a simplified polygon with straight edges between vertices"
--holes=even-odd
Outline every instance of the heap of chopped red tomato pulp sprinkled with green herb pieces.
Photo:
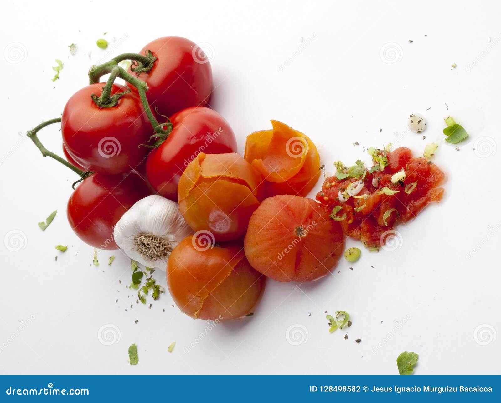
[[[347,236],[377,249],[397,223],[409,221],[428,203],[442,199],[445,174],[426,158],[413,157],[405,147],[374,150],[373,159],[373,168],[359,170],[358,177],[327,177],[317,200],[333,210],[332,219],[340,222]],[[397,175],[392,181],[397,172],[403,172],[403,179],[396,180]],[[354,188],[360,190],[348,194]]]

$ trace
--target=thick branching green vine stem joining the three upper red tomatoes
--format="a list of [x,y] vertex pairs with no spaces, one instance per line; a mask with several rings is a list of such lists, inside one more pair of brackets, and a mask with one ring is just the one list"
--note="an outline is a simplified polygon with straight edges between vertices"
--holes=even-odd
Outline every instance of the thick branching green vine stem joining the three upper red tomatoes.
[[[124,81],[127,81],[129,84],[134,85],[137,88],[137,91],[139,93],[139,97],[141,98],[141,103],[143,104],[144,110],[146,112],[146,115],[148,116],[148,120],[150,121],[151,125],[153,126],[153,129],[155,130],[156,137],[159,137],[160,139],[165,139],[169,135],[170,131],[172,130],[172,124],[169,123],[159,123],[157,119],[155,118],[155,115],[151,111],[150,105],[148,103],[148,99],[146,98],[146,91],[148,90],[148,85],[146,82],[143,80],[140,80],[139,78],[135,77],[131,73],[127,72],[123,67],[119,66],[118,63],[120,61],[123,61],[125,59],[133,59],[133,60],[139,60],[141,63],[141,68],[144,69],[146,68],[147,65],[152,65],[152,62],[155,60],[154,56],[151,54],[151,52],[146,51],[147,55],[140,55],[136,53],[124,53],[121,54],[110,61],[107,61],[106,63],[97,65],[97,66],[92,66],[89,70],[89,82],[91,84],[95,84],[99,82],[99,79],[101,76],[104,74],[109,74],[111,73],[110,78],[106,82],[105,87],[103,88],[103,91],[101,93],[101,96],[99,97],[99,101],[93,97],[94,101],[96,104],[98,102],[103,102],[105,101],[106,96],[109,96],[109,91],[111,91],[111,86],[113,85],[113,81],[115,78],[118,76],[122,78]],[[151,66],[149,67],[151,68]],[[148,68],[148,69],[149,69]],[[137,69],[137,68],[136,68]],[[107,92],[107,95],[104,94],[103,97],[103,92]],[[108,103],[105,103],[106,106],[108,107]],[[112,106],[112,105],[111,105]],[[167,128],[164,129],[163,127],[166,126]]]

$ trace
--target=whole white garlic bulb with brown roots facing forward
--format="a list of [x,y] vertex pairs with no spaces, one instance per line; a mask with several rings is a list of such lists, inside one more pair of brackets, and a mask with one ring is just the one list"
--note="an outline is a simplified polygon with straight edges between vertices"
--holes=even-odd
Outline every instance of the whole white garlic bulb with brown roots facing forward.
[[154,194],[127,210],[115,225],[115,242],[146,267],[167,269],[170,252],[193,233],[175,201]]

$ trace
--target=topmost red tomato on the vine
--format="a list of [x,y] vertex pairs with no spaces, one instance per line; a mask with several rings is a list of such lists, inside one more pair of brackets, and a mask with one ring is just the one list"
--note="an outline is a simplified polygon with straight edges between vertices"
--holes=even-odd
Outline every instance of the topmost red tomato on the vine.
[[180,36],[165,36],[148,43],[139,53],[146,50],[157,59],[151,70],[139,73],[138,78],[148,84],[146,96],[152,108],[170,116],[189,106],[207,104],[212,69],[201,47]]

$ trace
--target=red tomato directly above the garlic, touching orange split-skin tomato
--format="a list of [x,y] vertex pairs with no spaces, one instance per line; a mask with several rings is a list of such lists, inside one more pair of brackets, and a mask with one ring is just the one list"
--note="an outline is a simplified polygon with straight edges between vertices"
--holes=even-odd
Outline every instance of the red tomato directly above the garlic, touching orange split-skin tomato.
[[186,166],[201,152],[236,152],[236,139],[228,122],[204,106],[183,109],[170,120],[173,129],[149,154],[146,175],[158,194],[177,201],[177,183]]

